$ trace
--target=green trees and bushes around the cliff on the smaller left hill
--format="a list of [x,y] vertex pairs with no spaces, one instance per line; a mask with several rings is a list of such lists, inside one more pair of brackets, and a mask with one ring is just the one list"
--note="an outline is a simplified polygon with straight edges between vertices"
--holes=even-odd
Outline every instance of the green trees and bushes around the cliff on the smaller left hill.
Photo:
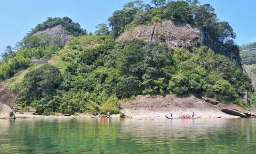
[[[20,69],[26,69],[30,66],[30,59],[50,59],[56,51],[59,51],[64,45],[58,42],[61,38],[52,37],[47,34],[32,35],[38,31],[52,28],[57,25],[64,26],[66,33],[73,36],[86,34],[86,31],[80,28],[78,23],[73,23],[68,17],[50,18],[38,24],[32,32],[28,33],[21,41],[17,42],[15,48],[7,46],[2,54],[0,61],[0,81],[14,76]],[[51,40],[50,42],[48,40]]]

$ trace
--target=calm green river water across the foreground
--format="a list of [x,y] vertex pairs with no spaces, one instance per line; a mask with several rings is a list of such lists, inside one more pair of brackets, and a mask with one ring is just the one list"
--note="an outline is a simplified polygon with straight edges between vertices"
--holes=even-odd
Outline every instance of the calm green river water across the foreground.
[[0,119],[0,154],[255,154],[256,118]]

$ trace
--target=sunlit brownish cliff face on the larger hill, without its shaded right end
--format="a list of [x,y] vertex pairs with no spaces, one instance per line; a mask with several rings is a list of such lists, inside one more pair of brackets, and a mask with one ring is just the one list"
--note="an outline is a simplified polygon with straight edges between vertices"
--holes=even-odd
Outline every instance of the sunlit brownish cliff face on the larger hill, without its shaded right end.
[[202,45],[202,34],[198,28],[189,24],[174,24],[171,21],[155,23],[149,26],[138,26],[134,30],[124,32],[117,40],[143,39],[146,41],[166,42],[170,47],[191,49]]

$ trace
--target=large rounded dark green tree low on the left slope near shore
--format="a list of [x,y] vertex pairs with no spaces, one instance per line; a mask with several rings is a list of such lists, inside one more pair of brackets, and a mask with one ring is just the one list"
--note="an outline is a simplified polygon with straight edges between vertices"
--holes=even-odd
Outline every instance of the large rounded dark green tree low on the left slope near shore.
[[[42,104],[36,102],[42,98],[49,101],[56,93],[61,79],[60,71],[52,65],[45,64],[36,67],[36,69],[25,74],[20,87],[20,95],[16,97],[16,102],[26,103],[26,105],[34,102],[33,106],[43,112]],[[46,100],[42,103],[46,104]]]

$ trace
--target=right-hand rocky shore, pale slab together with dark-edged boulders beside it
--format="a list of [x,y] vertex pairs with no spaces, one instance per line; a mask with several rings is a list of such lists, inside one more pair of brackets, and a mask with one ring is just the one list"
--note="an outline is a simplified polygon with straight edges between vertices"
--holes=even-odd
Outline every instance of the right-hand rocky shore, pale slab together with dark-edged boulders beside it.
[[170,113],[173,118],[178,118],[180,115],[191,116],[193,112],[195,118],[256,117],[254,109],[246,111],[237,105],[227,105],[205,97],[180,98],[174,95],[139,95],[134,100],[122,103],[121,111],[132,118],[163,118],[170,116]]

